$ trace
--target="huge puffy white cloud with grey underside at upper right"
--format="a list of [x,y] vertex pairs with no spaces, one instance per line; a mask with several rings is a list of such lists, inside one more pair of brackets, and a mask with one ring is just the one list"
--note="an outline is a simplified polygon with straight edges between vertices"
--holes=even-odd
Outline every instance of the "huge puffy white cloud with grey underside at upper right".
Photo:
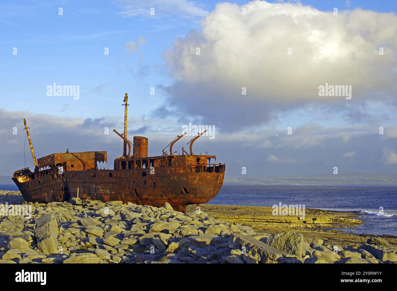
[[[335,16],[300,3],[256,0],[220,3],[201,25],[201,33],[190,31],[164,53],[175,80],[166,88],[167,104],[183,114],[239,129],[313,102],[341,109],[397,94],[393,13],[356,9]],[[325,83],[351,85],[352,99],[319,97],[318,86]],[[190,100],[181,103],[187,95]],[[197,100],[223,110],[213,114]],[[241,112],[250,114],[239,118]]]

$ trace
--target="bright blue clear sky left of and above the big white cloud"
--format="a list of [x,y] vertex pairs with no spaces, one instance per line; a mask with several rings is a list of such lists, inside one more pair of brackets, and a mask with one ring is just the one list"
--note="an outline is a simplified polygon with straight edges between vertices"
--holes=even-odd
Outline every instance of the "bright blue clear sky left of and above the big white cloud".
[[[218,1],[194,3],[211,11]],[[301,3],[324,11],[349,8],[345,1]],[[172,42],[189,30],[200,30],[200,17],[164,11],[161,7],[155,10],[158,18],[122,17],[122,6],[117,1],[3,2],[0,60],[6,70],[0,72],[0,105],[9,110],[90,118],[120,114],[122,107],[112,102],[122,99],[125,92],[129,92],[142,113],[160,105],[164,100],[162,92],[156,90],[154,98],[150,87],[172,82],[166,75],[164,49],[171,48]],[[59,7],[64,9],[62,16],[58,15]],[[397,4],[351,1],[350,9],[358,7],[396,12]],[[137,53],[128,54],[125,43],[139,37],[147,43]],[[13,47],[17,48],[17,56],[12,55]],[[108,56],[104,55],[105,47],[109,48]],[[139,74],[140,70],[145,74]],[[82,97],[78,106],[70,99],[48,98],[45,87],[53,82],[79,84]]]

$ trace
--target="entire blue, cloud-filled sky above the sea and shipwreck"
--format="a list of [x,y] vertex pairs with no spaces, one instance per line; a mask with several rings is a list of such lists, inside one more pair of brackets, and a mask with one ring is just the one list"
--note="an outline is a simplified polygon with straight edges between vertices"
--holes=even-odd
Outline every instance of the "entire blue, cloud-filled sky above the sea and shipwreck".
[[[229,177],[397,173],[396,13],[392,0],[2,1],[0,175],[33,168],[23,118],[37,157],[105,150],[112,169],[125,93],[127,136],[149,138],[149,155],[191,123],[212,129],[193,151]],[[76,94],[51,96],[54,83]]]

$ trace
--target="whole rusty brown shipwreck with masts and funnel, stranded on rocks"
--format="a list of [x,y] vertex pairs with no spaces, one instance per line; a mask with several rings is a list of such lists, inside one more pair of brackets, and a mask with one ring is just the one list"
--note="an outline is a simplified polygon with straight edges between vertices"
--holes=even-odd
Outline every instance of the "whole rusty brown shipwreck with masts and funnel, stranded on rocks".
[[[206,203],[218,194],[225,174],[225,164],[211,163],[216,156],[194,154],[192,145],[203,133],[188,143],[190,153],[182,148],[173,151],[173,145],[186,133],[177,136],[169,147],[169,154],[148,157],[148,139],[127,138],[127,99],[124,97],[123,155],[114,159],[114,169],[101,169],[98,163],[107,163],[106,151],[80,153],[53,153],[36,160],[25,119],[25,130],[31,148],[35,170],[15,171],[12,180],[27,202],[61,202],[73,197],[81,199],[121,200],[141,205],[160,207],[169,202],[173,209],[186,211],[189,204]],[[128,148],[128,151],[127,151]],[[131,155],[131,150],[133,151]]]

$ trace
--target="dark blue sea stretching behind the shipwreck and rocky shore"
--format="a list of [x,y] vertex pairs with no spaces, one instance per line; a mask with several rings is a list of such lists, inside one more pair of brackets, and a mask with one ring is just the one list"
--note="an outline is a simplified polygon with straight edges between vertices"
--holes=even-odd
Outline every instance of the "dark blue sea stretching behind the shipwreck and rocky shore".
[[[0,190],[17,191],[15,185]],[[397,187],[389,186],[222,186],[209,204],[272,206],[304,204],[306,208],[357,211],[364,223],[351,233],[397,236]],[[380,208],[383,208],[380,212]],[[340,229],[339,229],[340,230]]]

